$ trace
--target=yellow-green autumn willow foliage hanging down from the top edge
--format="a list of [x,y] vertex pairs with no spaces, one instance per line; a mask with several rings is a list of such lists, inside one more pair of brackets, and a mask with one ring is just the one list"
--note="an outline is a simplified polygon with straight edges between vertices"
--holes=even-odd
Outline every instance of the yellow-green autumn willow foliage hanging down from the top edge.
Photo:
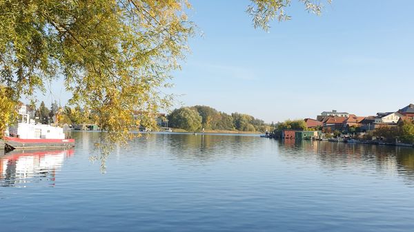
[[[319,1],[298,1],[309,12],[322,9]],[[271,20],[290,19],[288,6],[252,0],[247,12],[268,30]],[[126,141],[128,131],[154,127],[171,103],[161,90],[194,32],[188,8],[186,0],[0,0],[0,136],[19,99],[56,78],[72,93],[70,105],[94,112],[104,140]]]

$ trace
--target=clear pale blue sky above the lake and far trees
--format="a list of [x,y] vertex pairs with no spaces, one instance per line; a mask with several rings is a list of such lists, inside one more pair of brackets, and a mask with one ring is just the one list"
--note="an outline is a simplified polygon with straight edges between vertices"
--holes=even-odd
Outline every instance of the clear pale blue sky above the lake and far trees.
[[190,2],[203,36],[191,39],[169,89],[184,105],[270,123],[414,103],[414,1],[334,0],[317,17],[293,0],[292,20],[271,23],[270,32],[253,28],[249,1]]

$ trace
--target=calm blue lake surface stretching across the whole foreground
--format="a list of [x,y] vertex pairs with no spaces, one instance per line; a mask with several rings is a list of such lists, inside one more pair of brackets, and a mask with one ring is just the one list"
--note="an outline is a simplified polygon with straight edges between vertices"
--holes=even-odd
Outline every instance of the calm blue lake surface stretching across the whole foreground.
[[414,149],[150,134],[101,173],[98,134],[0,155],[0,231],[413,231]]

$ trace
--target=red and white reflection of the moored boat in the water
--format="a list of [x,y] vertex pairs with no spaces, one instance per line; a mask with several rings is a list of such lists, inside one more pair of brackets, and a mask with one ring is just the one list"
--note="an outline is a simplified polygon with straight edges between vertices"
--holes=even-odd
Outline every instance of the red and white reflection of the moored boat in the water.
[[63,160],[73,154],[73,149],[14,150],[0,154],[0,186],[26,187],[44,182],[53,187]]

